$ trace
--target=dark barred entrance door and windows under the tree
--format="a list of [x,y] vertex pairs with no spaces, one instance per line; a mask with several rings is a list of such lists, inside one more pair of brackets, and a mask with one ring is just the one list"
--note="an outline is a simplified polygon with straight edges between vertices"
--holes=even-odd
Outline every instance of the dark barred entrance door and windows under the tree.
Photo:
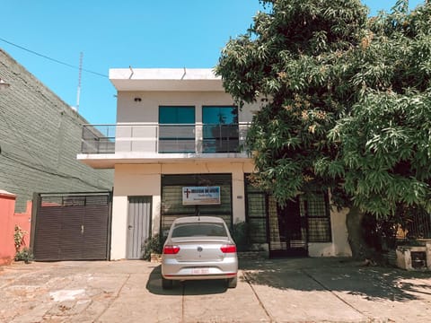
[[278,205],[245,174],[246,221],[252,244],[268,243],[270,257],[308,256],[310,243],[332,241],[328,193],[310,192]]

